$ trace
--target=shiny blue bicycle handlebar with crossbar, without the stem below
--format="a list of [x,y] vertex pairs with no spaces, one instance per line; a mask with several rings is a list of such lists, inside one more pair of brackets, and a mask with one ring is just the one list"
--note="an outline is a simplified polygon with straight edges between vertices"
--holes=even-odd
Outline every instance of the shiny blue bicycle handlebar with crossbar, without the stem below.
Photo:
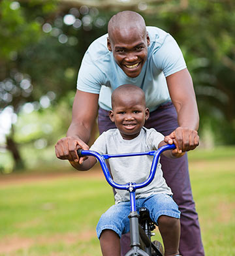
[[[151,183],[151,181],[153,180],[153,178],[155,176],[155,172],[157,169],[157,163],[159,161],[159,157],[160,157],[161,153],[163,153],[166,150],[174,150],[175,148],[176,148],[176,146],[174,144],[172,144],[172,145],[167,144],[167,145],[162,146],[161,148],[159,148],[156,151],[140,152],[140,153],[120,153],[120,154],[101,155],[100,153],[92,151],[92,150],[82,150],[82,149],[77,150],[77,152],[78,152],[79,157],[89,156],[89,155],[95,157],[101,165],[101,168],[102,168],[102,171],[104,172],[106,181],[112,187],[114,187],[116,189],[123,189],[123,190],[129,190],[130,187],[133,187],[133,190],[135,191],[136,189],[146,187],[147,185],[149,185]],[[150,169],[150,174],[148,176],[148,179],[140,184],[135,184],[132,182],[129,184],[117,184],[116,182],[114,182],[114,180],[112,179],[112,177],[110,175],[110,172],[108,170],[105,160],[110,159],[112,157],[132,157],[132,156],[136,156],[136,155],[151,155],[151,156],[153,156],[153,161],[151,164],[151,169]]]

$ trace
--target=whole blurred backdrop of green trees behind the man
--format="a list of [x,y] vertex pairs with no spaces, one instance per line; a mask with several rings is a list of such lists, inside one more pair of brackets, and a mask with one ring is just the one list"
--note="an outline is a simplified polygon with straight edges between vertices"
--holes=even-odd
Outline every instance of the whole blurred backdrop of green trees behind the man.
[[51,161],[69,127],[84,52],[120,10],[139,12],[178,41],[193,76],[202,144],[235,144],[234,7],[232,0],[1,1],[0,168]]

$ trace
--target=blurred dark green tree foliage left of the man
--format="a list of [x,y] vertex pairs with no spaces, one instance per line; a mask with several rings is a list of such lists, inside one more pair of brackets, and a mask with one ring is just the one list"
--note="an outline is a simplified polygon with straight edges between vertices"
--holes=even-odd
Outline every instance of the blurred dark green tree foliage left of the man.
[[[0,111],[10,107],[19,115],[25,110],[29,113],[32,108],[42,112],[52,106],[55,112],[61,114],[65,101],[67,105],[72,105],[70,91],[74,93],[76,89],[76,76],[84,52],[91,41],[106,33],[106,16],[96,8],[59,8],[57,2],[52,1],[26,1],[20,4],[3,1],[0,9],[4,12],[0,37],[5,36],[0,56],[3,64]],[[15,16],[15,22],[10,16]],[[14,36],[16,46],[11,47]],[[58,104],[60,101],[61,104]],[[61,115],[63,122],[59,127],[63,131],[69,125],[71,112],[67,106],[65,109],[67,115]],[[14,157],[15,167],[22,168],[16,142],[23,144],[24,139],[19,140],[14,131],[18,129],[12,125],[7,135],[7,149]],[[54,135],[55,130],[51,133]],[[28,143],[28,138],[25,136],[25,143]],[[37,140],[37,136],[34,140]],[[48,142],[53,143],[49,138]]]

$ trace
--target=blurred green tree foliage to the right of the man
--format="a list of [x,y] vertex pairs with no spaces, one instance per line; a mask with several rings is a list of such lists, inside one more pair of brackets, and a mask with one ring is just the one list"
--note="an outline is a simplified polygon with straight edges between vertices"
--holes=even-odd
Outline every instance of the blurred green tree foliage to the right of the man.
[[184,9],[160,8],[157,15],[144,16],[148,25],[171,33],[183,51],[195,85],[200,131],[210,127],[217,143],[234,144],[235,2],[185,2]]

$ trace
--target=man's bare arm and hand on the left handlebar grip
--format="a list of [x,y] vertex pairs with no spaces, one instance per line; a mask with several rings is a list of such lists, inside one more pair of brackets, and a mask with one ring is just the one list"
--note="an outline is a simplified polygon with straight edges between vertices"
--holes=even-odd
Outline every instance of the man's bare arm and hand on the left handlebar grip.
[[[78,162],[78,148],[88,150],[87,142],[98,110],[99,94],[77,90],[72,105],[72,121],[67,136],[55,144],[55,155],[59,159]],[[86,157],[80,158],[80,163]]]

